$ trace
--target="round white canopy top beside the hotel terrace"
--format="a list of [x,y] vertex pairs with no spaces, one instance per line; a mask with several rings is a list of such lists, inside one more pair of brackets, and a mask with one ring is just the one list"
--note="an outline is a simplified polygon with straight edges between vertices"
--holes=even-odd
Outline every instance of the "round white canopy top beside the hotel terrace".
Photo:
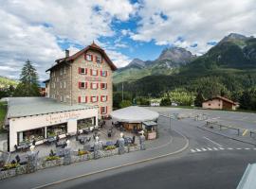
[[156,120],[159,113],[149,111],[145,108],[130,106],[110,113],[114,121],[126,123],[141,123]]

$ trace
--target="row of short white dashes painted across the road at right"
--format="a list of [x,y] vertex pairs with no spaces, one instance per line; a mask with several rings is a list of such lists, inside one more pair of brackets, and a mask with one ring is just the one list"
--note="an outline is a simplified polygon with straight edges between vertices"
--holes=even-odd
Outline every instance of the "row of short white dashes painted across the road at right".
[[200,153],[200,152],[207,152],[207,151],[223,151],[223,150],[255,150],[256,147],[224,147],[224,146],[202,146],[202,147],[194,147],[191,148],[192,153]]

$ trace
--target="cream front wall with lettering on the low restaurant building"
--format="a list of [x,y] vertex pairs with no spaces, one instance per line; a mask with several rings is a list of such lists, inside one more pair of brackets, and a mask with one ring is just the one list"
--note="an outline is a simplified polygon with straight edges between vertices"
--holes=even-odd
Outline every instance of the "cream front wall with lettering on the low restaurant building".
[[98,125],[98,110],[95,108],[79,110],[72,112],[48,113],[43,115],[34,115],[20,118],[11,118],[9,120],[9,150],[13,151],[17,145],[17,132],[30,129],[40,129],[48,126],[62,124],[67,122],[67,131],[77,131],[74,127],[74,120],[96,117],[95,125]]

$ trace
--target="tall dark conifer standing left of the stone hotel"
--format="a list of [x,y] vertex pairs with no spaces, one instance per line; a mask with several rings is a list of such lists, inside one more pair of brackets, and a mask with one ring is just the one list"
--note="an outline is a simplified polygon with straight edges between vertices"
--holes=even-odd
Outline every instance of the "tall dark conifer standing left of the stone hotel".
[[39,84],[36,69],[29,60],[26,61],[20,75],[20,82],[14,91],[14,96],[39,96]]

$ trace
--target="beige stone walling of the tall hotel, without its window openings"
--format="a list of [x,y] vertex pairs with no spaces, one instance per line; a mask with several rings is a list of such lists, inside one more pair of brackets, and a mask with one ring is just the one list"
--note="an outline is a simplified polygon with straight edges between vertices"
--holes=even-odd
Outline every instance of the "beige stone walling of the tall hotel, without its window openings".
[[[112,70],[105,59],[102,58],[101,63],[96,62],[96,56],[101,56],[97,51],[88,51],[87,54],[93,56],[93,60],[85,60],[84,55],[81,55],[69,66],[65,65],[51,71],[50,73],[50,97],[57,99],[57,101],[72,104],[84,103],[79,102],[79,98],[83,96],[87,98],[84,104],[98,105],[99,115],[108,116],[113,109],[113,84],[112,84]],[[80,74],[79,68],[87,69],[87,74]],[[61,70],[65,69],[64,71]],[[98,70],[98,76],[91,76],[90,70]],[[107,76],[101,77],[101,71],[106,71]],[[65,82],[65,88],[64,88]],[[79,88],[79,82],[86,82],[87,88]],[[61,84],[62,83],[62,84]],[[91,83],[98,84],[98,89],[91,89]],[[107,89],[101,89],[101,83],[107,83]],[[107,96],[107,101],[101,101],[101,95]],[[91,102],[91,96],[98,96],[98,102]],[[64,98],[65,97],[65,98]],[[107,107],[105,113],[101,113],[101,107]]]

